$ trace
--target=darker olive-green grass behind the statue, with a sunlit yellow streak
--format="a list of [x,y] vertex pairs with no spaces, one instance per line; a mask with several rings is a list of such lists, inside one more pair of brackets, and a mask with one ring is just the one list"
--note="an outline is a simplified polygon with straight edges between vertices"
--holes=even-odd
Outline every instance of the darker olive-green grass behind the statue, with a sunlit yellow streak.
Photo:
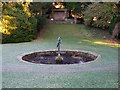
[[119,44],[111,43],[111,35],[106,30],[97,28],[88,29],[84,25],[71,24],[51,24],[42,31],[41,37],[48,41],[54,40],[61,36],[63,43],[80,44],[93,43],[99,45],[107,45],[112,47],[120,47]]

